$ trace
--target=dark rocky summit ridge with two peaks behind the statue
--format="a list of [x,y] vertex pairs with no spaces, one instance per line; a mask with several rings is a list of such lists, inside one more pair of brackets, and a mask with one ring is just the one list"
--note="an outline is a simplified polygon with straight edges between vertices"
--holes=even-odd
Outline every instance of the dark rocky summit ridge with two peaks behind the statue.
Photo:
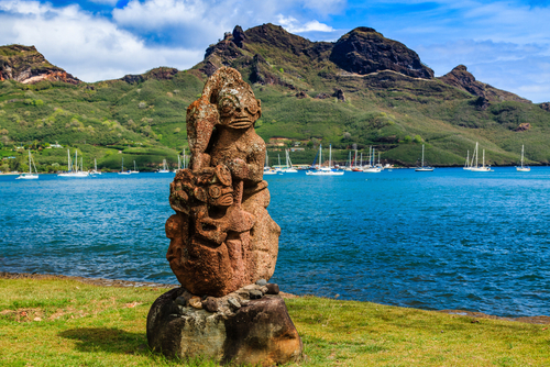
[[276,59],[278,65],[296,69],[316,65],[319,69],[332,70],[334,76],[338,70],[358,75],[392,70],[415,78],[433,78],[433,71],[422,65],[414,51],[369,27],[358,27],[331,43],[311,42],[274,24],[246,31],[238,25],[222,41],[208,47],[199,68],[211,75],[223,65],[241,70],[252,67],[250,80],[253,82],[292,86],[263,67],[268,66],[265,59]]

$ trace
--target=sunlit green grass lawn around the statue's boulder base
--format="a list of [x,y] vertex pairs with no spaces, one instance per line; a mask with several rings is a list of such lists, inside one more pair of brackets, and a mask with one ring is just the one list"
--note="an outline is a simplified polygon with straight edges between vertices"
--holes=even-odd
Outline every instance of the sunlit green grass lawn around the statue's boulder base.
[[[69,279],[0,279],[1,366],[216,366],[148,349],[166,289]],[[317,297],[287,299],[302,366],[549,366],[547,325]]]

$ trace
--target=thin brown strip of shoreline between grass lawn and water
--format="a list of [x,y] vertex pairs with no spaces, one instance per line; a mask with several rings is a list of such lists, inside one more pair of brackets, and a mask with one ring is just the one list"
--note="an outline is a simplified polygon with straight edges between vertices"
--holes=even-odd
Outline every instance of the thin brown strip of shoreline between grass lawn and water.
[[[58,280],[76,280],[88,285],[94,285],[98,287],[114,287],[114,288],[140,288],[140,287],[151,287],[151,288],[165,288],[172,289],[180,287],[180,285],[169,285],[169,283],[161,283],[161,282],[151,282],[151,281],[132,281],[132,280],[120,280],[120,279],[106,279],[106,278],[86,278],[78,276],[65,276],[65,275],[53,275],[53,274],[30,274],[30,273],[9,273],[9,271],[0,271],[0,279],[37,279],[37,280],[46,280],[46,279],[58,279]],[[301,297],[316,297],[315,294],[306,294],[298,296],[287,292],[280,292],[280,297],[284,299],[293,299],[293,298],[301,298]],[[355,301],[355,302],[364,302],[364,301]],[[373,303],[373,302],[370,302]],[[399,307],[397,307],[399,308]],[[474,312],[474,311],[464,311],[464,310],[424,310],[424,311],[432,311],[447,313],[452,315],[461,315],[461,316],[470,316],[474,319],[488,319],[488,320],[502,320],[502,321],[514,321],[514,322],[522,322],[528,324],[550,324],[550,316],[538,315],[538,316],[518,316],[518,318],[502,318],[495,316],[491,314],[486,314],[483,312]],[[472,321],[475,322],[475,321]]]

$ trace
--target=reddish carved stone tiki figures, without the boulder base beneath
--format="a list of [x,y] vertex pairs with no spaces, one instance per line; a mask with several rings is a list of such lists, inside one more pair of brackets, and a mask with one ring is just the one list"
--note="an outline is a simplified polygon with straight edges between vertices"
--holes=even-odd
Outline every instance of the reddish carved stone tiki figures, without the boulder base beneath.
[[166,257],[194,294],[222,297],[275,271],[280,229],[266,210],[265,143],[254,131],[261,114],[252,88],[229,67],[187,109],[191,157],[170,185]]

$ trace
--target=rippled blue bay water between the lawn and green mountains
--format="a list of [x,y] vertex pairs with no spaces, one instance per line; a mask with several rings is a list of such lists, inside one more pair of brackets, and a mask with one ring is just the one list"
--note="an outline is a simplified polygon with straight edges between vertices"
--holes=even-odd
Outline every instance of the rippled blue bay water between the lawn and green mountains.
[[[0,270],[176,283],[174,174],[0,176]],[[266,176],[272,281],[298,294],[550,315],[550,168]]]

